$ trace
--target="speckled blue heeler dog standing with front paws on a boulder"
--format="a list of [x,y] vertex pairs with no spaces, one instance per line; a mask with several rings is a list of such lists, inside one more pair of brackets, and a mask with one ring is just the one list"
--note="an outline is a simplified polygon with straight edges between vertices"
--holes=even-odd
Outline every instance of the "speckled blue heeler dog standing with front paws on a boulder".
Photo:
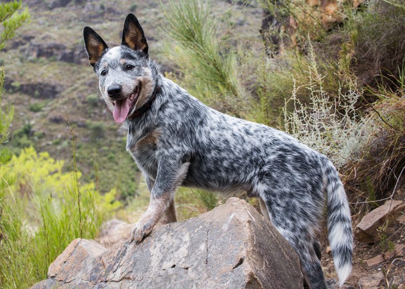
[[351,217],[338,172],[326,156],[286,133],[218,112],[165,78],[149,58],[133,14],[118,47],[108,48],[90,27],[84,38],[104,101],[116,122],[127,123],[127,150],[151,193],[132,231],[136,243],[157,222],[176,221],[177,186],[226,196],[247,191],[298,253],[309,287],[326,288],[314,233],[326,192],[329,241],[344,283],[352,267]]

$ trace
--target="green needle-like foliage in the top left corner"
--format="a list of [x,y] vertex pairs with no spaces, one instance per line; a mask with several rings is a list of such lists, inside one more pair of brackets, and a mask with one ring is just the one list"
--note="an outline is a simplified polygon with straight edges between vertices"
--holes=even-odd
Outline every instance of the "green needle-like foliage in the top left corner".
[[13,38],[15,31],[30,19],[28,8],[22,8],[22,1],[0,3],[0,23],[3,29],[0,33],[0,50],[6,46],[6,41]]

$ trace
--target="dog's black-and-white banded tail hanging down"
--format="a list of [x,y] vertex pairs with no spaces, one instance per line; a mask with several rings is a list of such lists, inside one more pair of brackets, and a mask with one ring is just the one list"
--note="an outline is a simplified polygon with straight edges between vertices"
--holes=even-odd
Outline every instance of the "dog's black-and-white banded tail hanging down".
[[343,184],[332,162],[323,163],[328,194],[328,238],[331,246],[339,286],[342,286],[352,269],[353,233],[349,203]]

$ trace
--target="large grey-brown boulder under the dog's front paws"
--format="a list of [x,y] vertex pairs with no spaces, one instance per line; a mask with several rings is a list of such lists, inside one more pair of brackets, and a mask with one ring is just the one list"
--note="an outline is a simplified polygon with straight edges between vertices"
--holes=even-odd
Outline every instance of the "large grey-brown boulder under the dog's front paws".
[[[104,251],[103,251],[104,250]],[[156,228],[139,245],[74,240],[33,288],[302,288],[298,255],[238,198]]]

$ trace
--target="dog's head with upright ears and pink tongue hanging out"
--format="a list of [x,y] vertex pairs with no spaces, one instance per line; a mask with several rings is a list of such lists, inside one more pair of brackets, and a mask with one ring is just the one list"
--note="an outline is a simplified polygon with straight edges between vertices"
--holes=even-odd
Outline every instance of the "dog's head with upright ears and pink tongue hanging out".
[[154,89],[148,44],[134,14],[125,19],[120,46],[108,48],[92,28],[85,27],[86,50],[99,79],[100,92],[116,122],[124,122],[146,103]]

